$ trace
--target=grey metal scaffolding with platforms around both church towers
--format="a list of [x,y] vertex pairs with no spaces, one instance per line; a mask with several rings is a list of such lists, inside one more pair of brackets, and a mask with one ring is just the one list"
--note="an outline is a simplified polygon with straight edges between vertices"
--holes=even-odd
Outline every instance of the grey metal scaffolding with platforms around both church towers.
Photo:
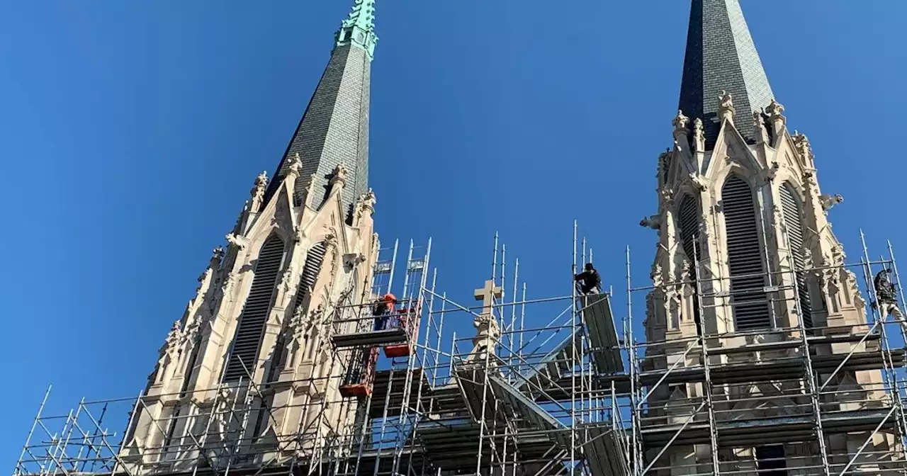
[[[639,338],[634,308],[658,286],[632,286],[629,248],[626,314],[616,318],[612,293],[583,296],[572,281],[569,293],[527,298],[518,261],[508,281],[497,237],[491,283],[501,297],[463,306],[435,288],[431,241],[411,244],[395,312],[378,324],[368,305],[341,297],[326,313],[331,371],[291,383],[337,388],[337,400],[292,410],[271,397],[276,383],[224,384],[204,391],[214,404],[156,415],[161,444],[145,448],[141,464],[124,452],[130,435],[106,428],[129,427],[144,396],[83,401],[55,416],[42,403],[14,476],[905,473],[905,355],[892,344],[904,322],[872,306],[878,267],[892,268],[905,301],[891,246],[873,260],[862,241],[863,257],[843,267],[859,272],[866,322],[807,326],[801,280],[787,266],[760,292],[795,325],[722,332],[699,319],[692,335],[662,339]],[[397,249],[375,264],[372,296],[395,288]],[[591,255],[574,224],[572,272]],[[706,316],[735,306],[738,290],[712,291],[718,280],[729,277],[697,273],[664,286],[695,284],[697,316]],[[445,328],[454,313],[484,325],[493,345]],[[291,410],[308,424],[268,431],[271,415]]]

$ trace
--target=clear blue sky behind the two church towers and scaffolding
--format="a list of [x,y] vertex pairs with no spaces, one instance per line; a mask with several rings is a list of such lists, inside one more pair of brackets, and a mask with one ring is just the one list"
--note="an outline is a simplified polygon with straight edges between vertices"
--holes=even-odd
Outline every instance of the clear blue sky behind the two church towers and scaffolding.
[[[56,413],[141,390],[210,248],[276,166],[348,4],[0,4],[0,467],[47,384]],[[438,287],[463,303],[489,277],[495,230],[530,296],[568,294],[573,219],[616,290],[627,245],[634,284],[648,277],[655,234],[638,222],[671,144],[688,2],[561,4],[377,5],[376,227],[385,244],[434,237]],[[830,218],[849,256],[859,228],[873,256],[885,238],[907,253],[891,180],[907,172],[907,3],[742,4],[823,190],[846,199]]]

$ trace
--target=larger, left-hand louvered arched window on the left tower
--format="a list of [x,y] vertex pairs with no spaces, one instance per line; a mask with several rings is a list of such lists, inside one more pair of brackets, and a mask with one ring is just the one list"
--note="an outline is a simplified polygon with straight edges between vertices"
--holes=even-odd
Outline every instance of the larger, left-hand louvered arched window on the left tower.
[[224,382],[246,378],[243,368],[255,372],[258,364],[258,347],[268,321],[268,310],[274,299],[280,266],[283,264],[284,244],[277,235],[271,235],[258,253],[255,263],[255,278],[246,298],[246,306],[239,316],[236,335],[233,336],[233,348],[224,372]]

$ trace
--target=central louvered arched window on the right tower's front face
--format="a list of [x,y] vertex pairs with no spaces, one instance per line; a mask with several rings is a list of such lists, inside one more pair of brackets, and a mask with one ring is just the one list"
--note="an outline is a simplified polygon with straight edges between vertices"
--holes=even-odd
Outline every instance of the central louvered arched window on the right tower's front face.
[[753,191],[739,177],[731,177],[721,189],[727,235],[727,267],[730,269],[730,304],[736,330],[769,328],[762,266],[762,247],[756,223]]

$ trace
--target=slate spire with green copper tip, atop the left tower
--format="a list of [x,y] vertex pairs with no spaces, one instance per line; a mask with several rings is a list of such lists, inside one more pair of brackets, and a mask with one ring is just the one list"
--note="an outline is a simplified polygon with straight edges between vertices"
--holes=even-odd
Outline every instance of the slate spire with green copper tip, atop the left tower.
[[321,81],[290,140],[278,172],[268,187],[274,194],[287,174],[289,158],[299,154],[302,168],[295,186],[301,203],[309,186],[318,207],[327,196],[328,180],[338,165],[346,168],[341,199],[348,212],[356,197],[368,191],[368,109],[372,55],[375,53],[375,0],[355,0],[335,34],[334,51]]

